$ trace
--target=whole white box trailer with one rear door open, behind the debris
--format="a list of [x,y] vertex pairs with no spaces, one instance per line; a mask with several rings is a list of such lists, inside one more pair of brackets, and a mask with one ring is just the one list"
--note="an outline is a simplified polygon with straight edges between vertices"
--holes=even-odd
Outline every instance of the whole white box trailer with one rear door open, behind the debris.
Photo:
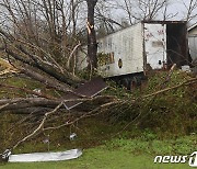
[[[128,88],[150,69],[166,69],[173,64],[188,65],[187,25],[183,21],[140,22],[97,41],[99,72]],[[85,55],[80,54],[78,67],[85,66]]]

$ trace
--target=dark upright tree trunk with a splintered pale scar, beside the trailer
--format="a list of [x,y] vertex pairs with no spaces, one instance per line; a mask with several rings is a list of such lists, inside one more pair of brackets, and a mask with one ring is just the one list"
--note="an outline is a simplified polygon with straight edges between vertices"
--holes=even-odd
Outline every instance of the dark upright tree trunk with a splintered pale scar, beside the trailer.
[[96,34],[94,30],[94,8],[97,0],[86,0],[88,4],[88,57],[89,57],[89,67],[97,67],[97,43]]

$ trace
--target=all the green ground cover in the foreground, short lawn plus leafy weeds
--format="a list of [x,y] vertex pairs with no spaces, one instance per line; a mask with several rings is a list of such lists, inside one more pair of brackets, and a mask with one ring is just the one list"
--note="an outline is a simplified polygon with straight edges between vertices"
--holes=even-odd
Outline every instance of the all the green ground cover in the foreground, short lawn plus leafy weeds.
[[157,155],[190,155],[197,136],[157,139],[150,134],[139,138],[114,138],[104,145],[83,149],[79,159],[58,162],[5,164],[1,169],[189,169],[188,164],[154,164]]

